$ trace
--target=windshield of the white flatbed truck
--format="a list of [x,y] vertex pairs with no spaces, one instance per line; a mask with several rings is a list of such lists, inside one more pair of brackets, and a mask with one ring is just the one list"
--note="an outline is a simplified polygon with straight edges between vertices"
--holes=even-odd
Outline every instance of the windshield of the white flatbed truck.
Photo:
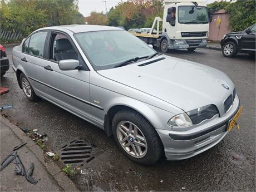
[[182,24],[208,23],[207,8],[200,6],[179,6],[178,22]]

